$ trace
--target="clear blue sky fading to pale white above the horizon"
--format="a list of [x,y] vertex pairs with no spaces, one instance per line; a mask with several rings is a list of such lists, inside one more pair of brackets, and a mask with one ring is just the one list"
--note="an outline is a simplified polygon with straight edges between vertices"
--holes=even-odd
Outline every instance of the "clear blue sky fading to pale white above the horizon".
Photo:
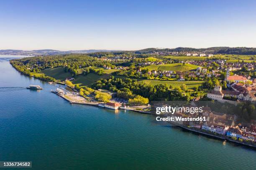
[[2,0],[0,50],[256,47],[256,0]]

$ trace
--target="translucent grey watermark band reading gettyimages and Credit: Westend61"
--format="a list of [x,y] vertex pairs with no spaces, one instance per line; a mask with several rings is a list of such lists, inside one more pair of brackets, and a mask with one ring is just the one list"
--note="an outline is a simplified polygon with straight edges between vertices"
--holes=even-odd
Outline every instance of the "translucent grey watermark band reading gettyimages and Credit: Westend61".
[[255,103],[233,105],[216,101],[153,101],[151,114],[155,115],[153,122],[159,125],[202,127],[205,123],[229,125],[230,122],[232,125],[238,119],[240,109],[246,105],[255,106]]

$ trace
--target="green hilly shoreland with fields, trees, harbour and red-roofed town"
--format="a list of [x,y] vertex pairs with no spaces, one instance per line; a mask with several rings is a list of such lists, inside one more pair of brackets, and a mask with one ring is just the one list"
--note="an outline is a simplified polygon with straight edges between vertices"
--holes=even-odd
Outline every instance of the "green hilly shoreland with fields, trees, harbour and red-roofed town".
[[66,85],[69,90],[53,92],[72,103],[142,113],[151,112],[151,101],[220,103],[219,110],[205,110],[205,122],[173,123],[255,143],[255,61],[254,48],[212,47],[38,55],[10,63],[25,75]]

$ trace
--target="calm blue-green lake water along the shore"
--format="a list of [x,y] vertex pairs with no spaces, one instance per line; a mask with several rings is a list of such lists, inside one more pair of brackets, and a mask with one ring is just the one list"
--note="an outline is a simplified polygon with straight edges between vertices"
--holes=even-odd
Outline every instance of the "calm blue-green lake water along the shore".
[[151,115],[70,104],[4,58],[0,161],[32,161],[34,170],[256,169],[256,150],[156,125]]

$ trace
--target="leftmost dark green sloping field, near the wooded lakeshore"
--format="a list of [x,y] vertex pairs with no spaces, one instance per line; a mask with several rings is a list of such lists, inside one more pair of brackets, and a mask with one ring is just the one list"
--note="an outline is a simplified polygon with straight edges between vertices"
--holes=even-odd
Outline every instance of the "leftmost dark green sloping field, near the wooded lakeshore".
[[46,68],[41,72],[50,77],[54,77],[56,80],[61,80],[61,81],[64,81],[67,77],[72,77],[72,75],[69,72],[64,72],[63,67]]

